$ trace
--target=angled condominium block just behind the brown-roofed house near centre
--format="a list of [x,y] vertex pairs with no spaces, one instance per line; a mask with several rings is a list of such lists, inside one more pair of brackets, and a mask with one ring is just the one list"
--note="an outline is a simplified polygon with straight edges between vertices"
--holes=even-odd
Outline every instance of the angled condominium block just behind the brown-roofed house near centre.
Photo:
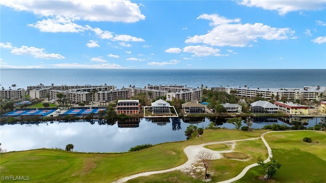
[[181,99],[183,101],[193,101],[198,100],[203,97],[203,89],[196,88],[191,90],[185,90],[180,92],[167,93],[167,101],[172,101],[173,99]]

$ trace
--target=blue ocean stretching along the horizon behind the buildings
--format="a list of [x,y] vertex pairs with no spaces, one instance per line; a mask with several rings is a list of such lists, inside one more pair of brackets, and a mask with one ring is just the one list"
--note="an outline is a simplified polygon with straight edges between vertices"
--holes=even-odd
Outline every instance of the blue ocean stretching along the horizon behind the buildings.
[[180,84],[187,87],[303,88],[326,86],[326,69],[0,69],[1,87],[29,85],[114,85],[144,87]]

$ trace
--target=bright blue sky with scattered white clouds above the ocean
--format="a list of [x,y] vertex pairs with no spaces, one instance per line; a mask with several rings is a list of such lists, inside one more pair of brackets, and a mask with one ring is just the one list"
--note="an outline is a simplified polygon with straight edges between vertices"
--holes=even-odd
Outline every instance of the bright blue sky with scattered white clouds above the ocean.
[[326,1],[1,1],[0,68],[326,69]]

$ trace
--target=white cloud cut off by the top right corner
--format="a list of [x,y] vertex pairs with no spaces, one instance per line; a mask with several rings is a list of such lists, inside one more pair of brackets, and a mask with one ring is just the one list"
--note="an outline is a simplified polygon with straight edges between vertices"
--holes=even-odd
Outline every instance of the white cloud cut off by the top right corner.
[[322,10],[325,8],[325,1],[261,1],[261,0],[242,0],[238,4],[248,7],[258,7],[264,10],[277,11],[280,15],[285,15],[293,11],[301,10]]

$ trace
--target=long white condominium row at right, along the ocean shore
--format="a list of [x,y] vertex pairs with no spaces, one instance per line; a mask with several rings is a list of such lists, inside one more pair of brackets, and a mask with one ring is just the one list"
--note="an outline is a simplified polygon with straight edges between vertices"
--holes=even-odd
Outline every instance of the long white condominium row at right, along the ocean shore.
[[316,100],[321,101],[326,96],[326,86],[305,86],[300,88],[250,88],[250,87],[212,87],[211,90],[216,92],[226,92],[228,94],[239,97],[254,98],[260,95],[263,99],[280,100],[282,97],[286,99],[299,100]]

